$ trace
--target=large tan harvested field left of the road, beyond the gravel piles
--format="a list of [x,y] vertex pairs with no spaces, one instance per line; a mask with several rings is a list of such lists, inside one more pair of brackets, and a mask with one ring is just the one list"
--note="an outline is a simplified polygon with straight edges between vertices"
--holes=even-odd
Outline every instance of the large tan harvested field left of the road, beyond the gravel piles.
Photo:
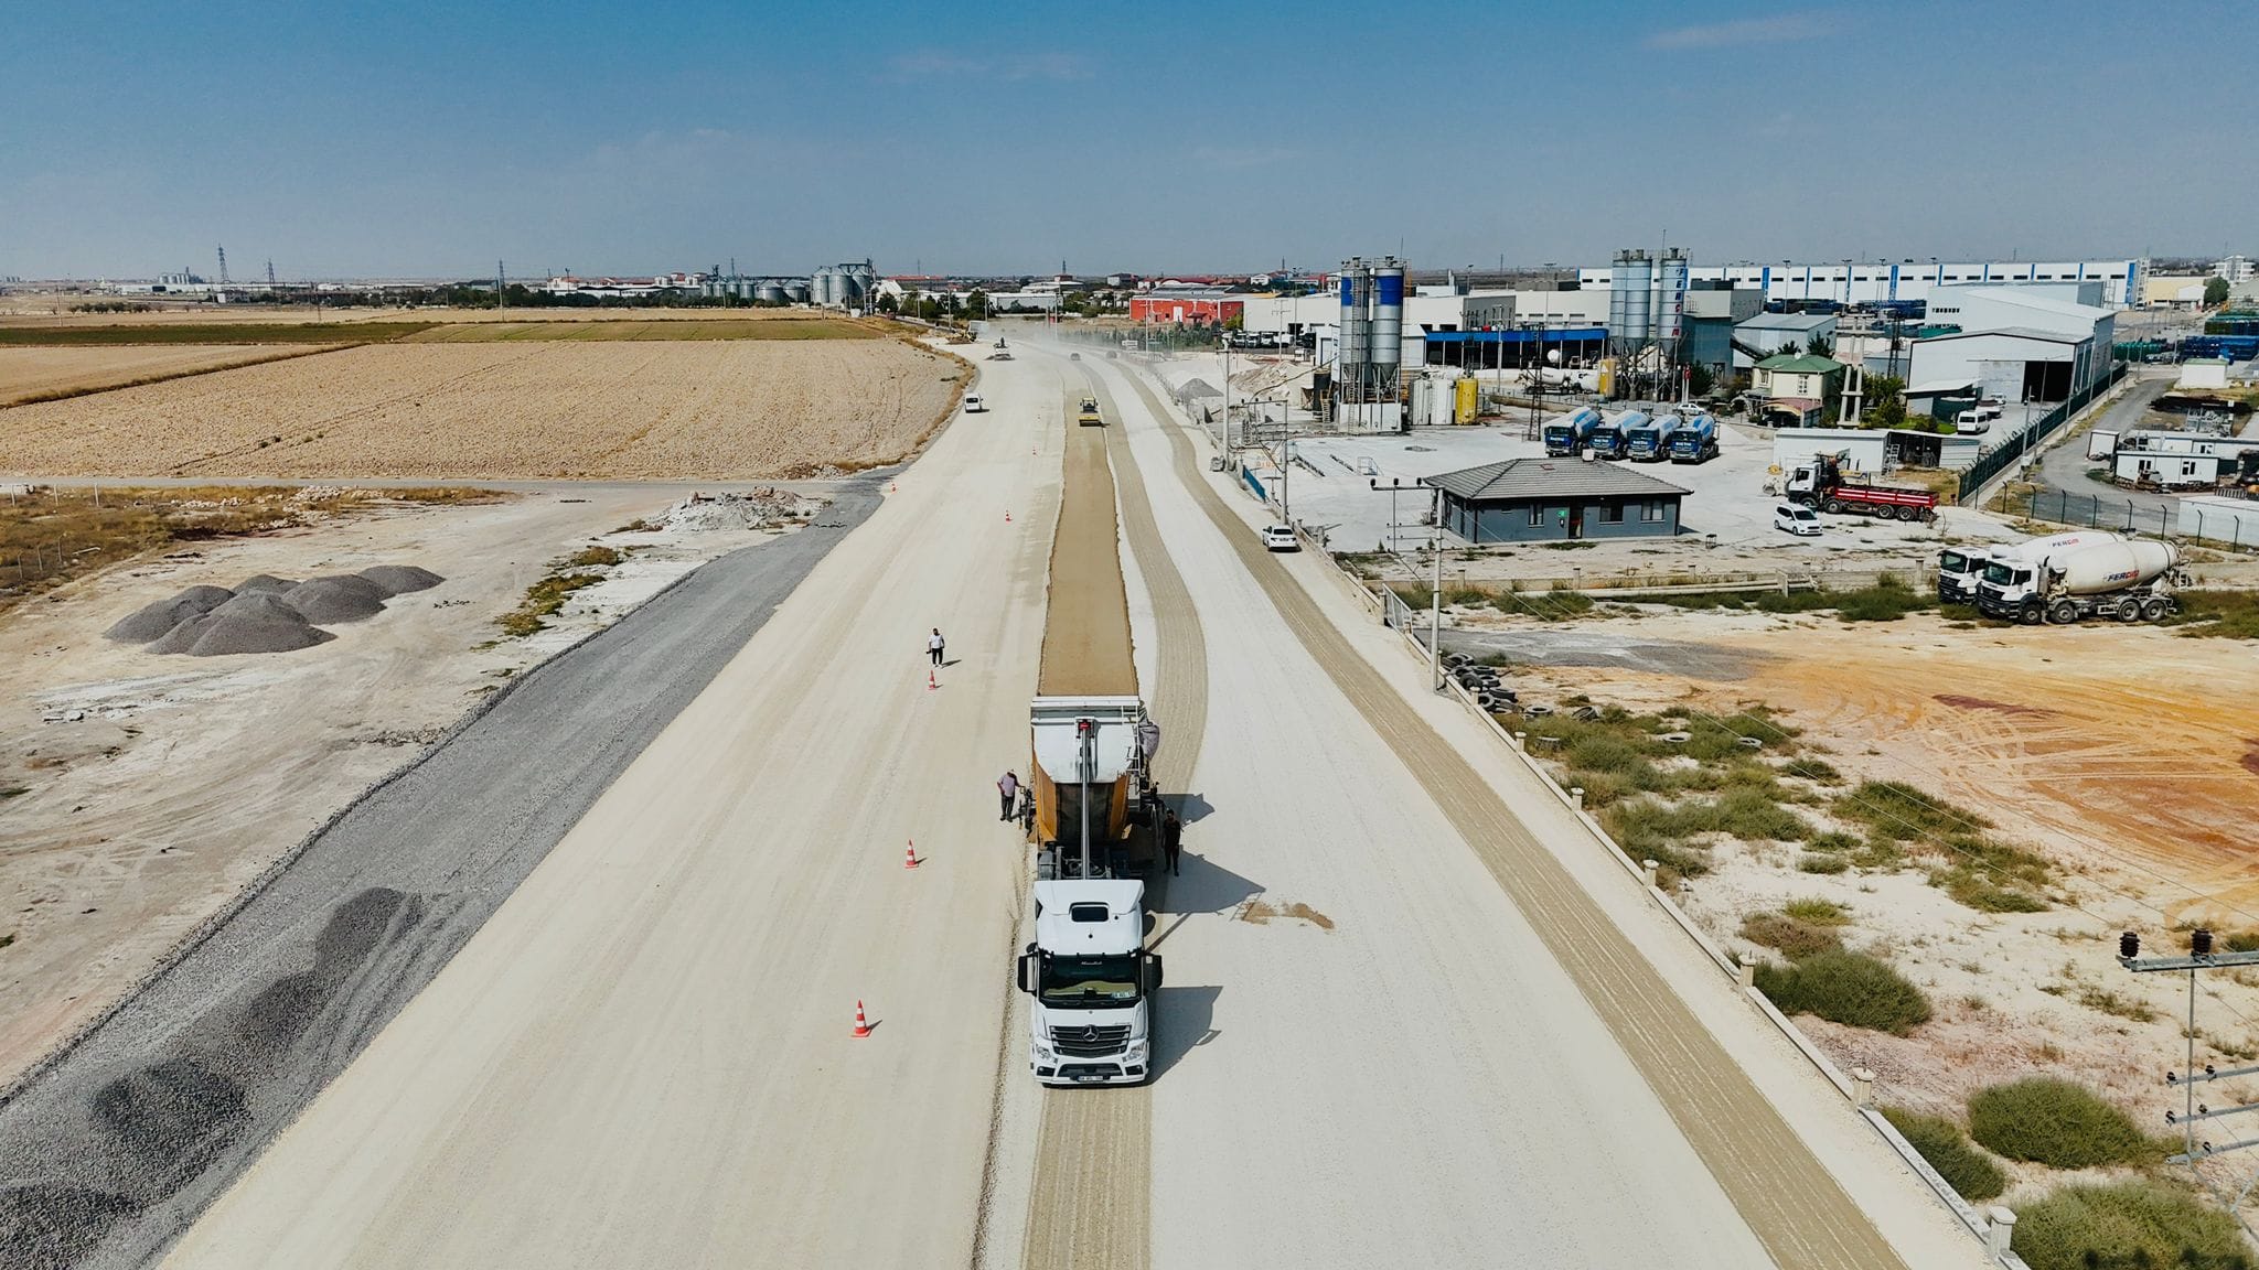
[[965,377],[899,339],[377,343],[0,411],[0,475],[802,477],[908,456]]

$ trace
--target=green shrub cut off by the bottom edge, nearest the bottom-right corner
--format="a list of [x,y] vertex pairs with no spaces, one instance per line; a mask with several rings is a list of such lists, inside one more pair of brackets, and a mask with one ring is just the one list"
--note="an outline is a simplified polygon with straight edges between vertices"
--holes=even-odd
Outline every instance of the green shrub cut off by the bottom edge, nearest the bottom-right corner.
[[2024,1204],[2015,1252],[2031,1270],[2254,1270],[2234,1218],[2162,1182],[2072,1184]]

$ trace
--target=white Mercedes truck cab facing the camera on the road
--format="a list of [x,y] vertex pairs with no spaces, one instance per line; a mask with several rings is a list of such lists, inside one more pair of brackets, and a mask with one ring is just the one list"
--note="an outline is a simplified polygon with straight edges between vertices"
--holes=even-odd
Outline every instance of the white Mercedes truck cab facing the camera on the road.
[[1014,981],[1028,994],[1028,1071],[1044,1085],[1141,1085],[1152,1076],[1161,958],[1134,879],[1035,884],[1035,942]]

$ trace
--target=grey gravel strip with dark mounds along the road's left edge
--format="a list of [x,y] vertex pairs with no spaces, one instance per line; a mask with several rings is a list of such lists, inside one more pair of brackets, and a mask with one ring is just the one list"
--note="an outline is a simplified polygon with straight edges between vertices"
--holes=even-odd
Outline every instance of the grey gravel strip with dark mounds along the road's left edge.
[[0,1103],[0,1268],[138,1268],[447,965],[881,502],[723,556],[513,680]]

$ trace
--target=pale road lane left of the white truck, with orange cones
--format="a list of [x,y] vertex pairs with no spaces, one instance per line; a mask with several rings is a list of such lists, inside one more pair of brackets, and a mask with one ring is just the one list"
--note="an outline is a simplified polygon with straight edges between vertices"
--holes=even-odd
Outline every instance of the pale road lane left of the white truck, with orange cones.
[[172,1265],[969,1261],[1059,470],[980,391]]

